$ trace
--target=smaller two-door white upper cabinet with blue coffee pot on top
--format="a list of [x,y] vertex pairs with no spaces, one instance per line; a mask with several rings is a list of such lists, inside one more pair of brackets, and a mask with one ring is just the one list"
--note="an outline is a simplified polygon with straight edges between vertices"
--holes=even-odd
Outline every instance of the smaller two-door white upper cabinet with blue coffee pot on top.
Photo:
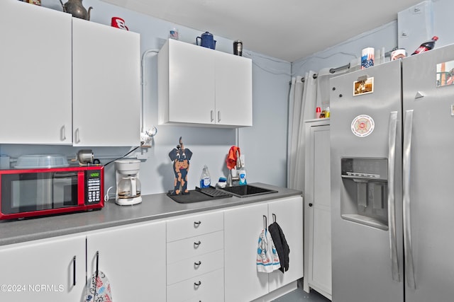
[[252,126],[252,60],[177,40],[158,54],[160,124]]

